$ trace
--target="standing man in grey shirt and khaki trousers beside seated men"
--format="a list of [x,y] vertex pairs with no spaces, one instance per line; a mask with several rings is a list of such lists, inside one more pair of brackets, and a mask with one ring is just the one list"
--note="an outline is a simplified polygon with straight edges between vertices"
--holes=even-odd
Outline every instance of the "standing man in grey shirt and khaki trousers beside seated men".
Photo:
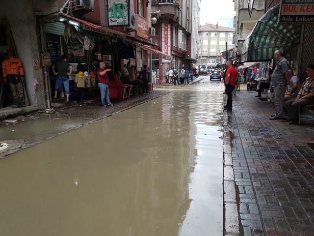
[[276,120],[282,119],[284,109],[284,98],[286,93],[287,84],[290,85],[290,76],[288,71],[288,60],[284,57],[282,50],[275,51],[275,59],[277,64],[271,76],[271,84],[275,86],[275,114],[269,119]]

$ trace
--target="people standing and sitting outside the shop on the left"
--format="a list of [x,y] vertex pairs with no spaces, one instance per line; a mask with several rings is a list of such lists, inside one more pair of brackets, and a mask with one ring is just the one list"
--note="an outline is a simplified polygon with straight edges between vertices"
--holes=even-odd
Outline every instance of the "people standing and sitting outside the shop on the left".
[[[55,76],[57,76],[55,87],[54,87],[54,98],[57,98],[57,93],[61,84],[64,85],[64,90],[66,92],[66,101],[69,102],[70,97],[70,88],[69,88],[69,76],[73,73],[74,68],[68,62],[68,58],[66,56],[62,56],[61,60],[54,63],[52,65],[52,72]],[[98,79],[98,87],[101,91],[101,101],[102,106],[113,106],[109,97],[109,87],[108,87],[108,74],[112,70],[106,67],[104,61],[99,63],[99,69],[97,70],[97,79]],[[150,71],[147,68],[147,65],[143,66],[143,70],[137,73],[134,65],[124,64],[122,69],[122,74],[119,77],[125,84],[132,85],[132,94],[135,94],[136,87],[142,88],[142,93],[149,93],[148,90],[148,80]],[[80,76],[78,74],[78,76]],[[117,75],[115,74],[114,77]],[[81,75],[84,78],[84,73]],[[116,80],[119,80],[118,77]],[[78,81],[76,81],[78,82]]]

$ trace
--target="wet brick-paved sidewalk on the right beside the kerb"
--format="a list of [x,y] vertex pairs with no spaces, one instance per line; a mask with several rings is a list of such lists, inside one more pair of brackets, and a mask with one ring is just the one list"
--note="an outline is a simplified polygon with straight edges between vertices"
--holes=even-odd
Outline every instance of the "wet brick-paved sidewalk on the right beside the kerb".
[[241,235],[314,236],[314,124],[270,121],[255,95],[238,92],[226,121]]

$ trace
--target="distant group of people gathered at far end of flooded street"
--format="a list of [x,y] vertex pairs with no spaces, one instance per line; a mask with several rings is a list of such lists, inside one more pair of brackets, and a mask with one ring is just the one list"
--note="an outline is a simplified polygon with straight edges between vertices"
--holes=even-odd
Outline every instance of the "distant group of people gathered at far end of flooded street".
[[[189,81],[193,82],[194,77],[198,77],[197,71],[193,69],[182,69],[179,72],[176,69],[167,69],[166,71],[166,83],[174,85],[188,85]],[[179,80],[180,78],[180,80]]]

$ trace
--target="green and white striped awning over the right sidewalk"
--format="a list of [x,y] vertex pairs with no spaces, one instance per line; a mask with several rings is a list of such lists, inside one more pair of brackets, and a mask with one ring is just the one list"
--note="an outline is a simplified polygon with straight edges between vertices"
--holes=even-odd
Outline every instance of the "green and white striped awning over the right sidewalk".
[[301,26],[278,24],[280,4],[269,9],[256,23],[241,49],[241,61],[265,61],[276,50],[290,51],[300,42]]

